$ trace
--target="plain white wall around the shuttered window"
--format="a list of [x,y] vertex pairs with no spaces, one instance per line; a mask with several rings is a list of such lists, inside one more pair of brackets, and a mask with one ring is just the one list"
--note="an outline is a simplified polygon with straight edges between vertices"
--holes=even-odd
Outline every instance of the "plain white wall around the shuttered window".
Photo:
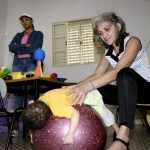
[[[82,65],[73,67],[52,66],[52,23],[96,16],[104,11],[115,11],[127,24],[127,30],[138,36],[146,47],[150,40],[150,0],[7,0],[8,36],[5,38],[4,64],[11,68],[13,54],[8,44],[13,36],[22,31],[18,17],[23,12],[34,18],[36,30],[44,33],[43,50],[46,53],[44,74],[56,72],[71,82],[78,82],[91,74],[96,67]],[[1,6],[1,4],[0,4]],[[1,8],[1,7],[0,7]],[[0,55],[0,58],[3,56]]]

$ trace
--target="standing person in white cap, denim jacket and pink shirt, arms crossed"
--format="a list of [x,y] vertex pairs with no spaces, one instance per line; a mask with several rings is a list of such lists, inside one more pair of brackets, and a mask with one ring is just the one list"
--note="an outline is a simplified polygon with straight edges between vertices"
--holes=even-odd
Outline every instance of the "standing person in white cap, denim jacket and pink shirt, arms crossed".
[[[34,51],[38,48],[42,48],[43,45],[43,33],[36,31],[33,25],[33,19],[30,14],[23,13],[19,20],[24,28],[24,31],[17,33],[9,44],[9,51],[14,53],[13,60],[13,72],[29,72],[36,70],[36,61],[34,60]],[[23,107],[24,97],[16,94],[14,96],[15,103],[13,108]],[[18,135],[18,118],[15,121],[13,127],[12,136]]]

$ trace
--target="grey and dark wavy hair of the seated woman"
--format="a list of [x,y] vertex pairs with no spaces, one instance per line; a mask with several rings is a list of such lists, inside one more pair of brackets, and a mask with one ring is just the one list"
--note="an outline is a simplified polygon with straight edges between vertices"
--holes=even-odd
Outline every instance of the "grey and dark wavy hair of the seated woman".
[[[98,15],[97,17],[95,17],[93,19],[93,32],[99,40],[100,40],[100,38],[98,35],[98,25],[102,22],[110,22],[114,25],[117,25],[117,23],[121,24],[121,30],[119,32],[118,39],[116,41],[116,45],[119,45],[120,42],[122,41],[122,39],[124,39],[126,36],[129,35],[129,33],[126,32],[126,24],[122,20],[122,18],[117,16],[115,12],[105,12],[101,15]],[[109,47],[106,43],[104,43],[104,45],[105,45],[105,47]]]

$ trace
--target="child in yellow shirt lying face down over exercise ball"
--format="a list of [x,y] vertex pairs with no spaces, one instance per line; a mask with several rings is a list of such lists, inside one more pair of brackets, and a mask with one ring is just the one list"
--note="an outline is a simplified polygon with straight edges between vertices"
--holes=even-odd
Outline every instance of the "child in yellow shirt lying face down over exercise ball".
[[[72,106],[73,104],[70,104],[70,99],[73,95],[67,96],[66,93],[68,91],[69,89],[65,88],[50,90],[40,96],[37,101],[30,102],[22,114],[23,122],[26,126],[31,129],[31,131],[43,128],[51,112],[54,116],[69,118],[70,126],[63,142],[64,144],[73,144],[80,114],[79,111]],[[89,92],[83,103],[90,105],[99,114],[107,127],[112,126],[115,132],[118,132],[114,115],[105,107],[102,97],[97,90]],[[30,137],[31,142],[33,142],[32,134],[30,134]]]

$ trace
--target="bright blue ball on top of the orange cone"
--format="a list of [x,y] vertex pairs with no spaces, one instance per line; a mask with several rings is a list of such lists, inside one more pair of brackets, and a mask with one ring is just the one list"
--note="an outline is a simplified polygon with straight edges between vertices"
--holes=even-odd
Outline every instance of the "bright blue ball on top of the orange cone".
[[34,51],[34,59],[37,61],[43,61],[45,59],[45,52],[38,48]]

